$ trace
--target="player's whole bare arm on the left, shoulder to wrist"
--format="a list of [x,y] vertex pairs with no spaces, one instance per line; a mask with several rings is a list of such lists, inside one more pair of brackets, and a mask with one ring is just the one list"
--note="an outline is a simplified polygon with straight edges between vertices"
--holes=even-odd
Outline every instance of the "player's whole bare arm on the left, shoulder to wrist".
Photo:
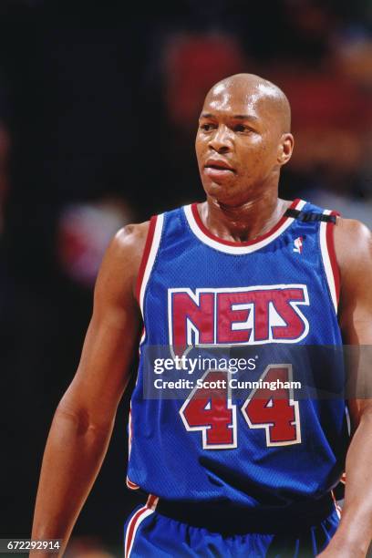
[[147,230],[148,223],[129,225],[109,245],[78,371],[47,439],[32,538],[63,539],[60,553],[98,475],[129,381],[140,330],[135,283]]

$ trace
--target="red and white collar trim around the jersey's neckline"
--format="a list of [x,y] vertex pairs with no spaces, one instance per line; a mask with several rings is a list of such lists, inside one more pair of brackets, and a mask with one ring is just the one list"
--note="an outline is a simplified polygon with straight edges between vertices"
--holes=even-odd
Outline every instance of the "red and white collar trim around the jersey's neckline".
[[[304,202],[304,200],[294,200],[289,209],[301,211],[304,208],[305,203],[306,202]],[[192,233],[194,233],[199,240],[202,241],[202,243],[224,253],[243,254],[253,253],[256,250],[260,250],[260,248],[263,248],[263,246],[273,242],[275,238],[284,233],[285,229],[287,229],[294,222],[293,217],[283,216],[282,219],[280,219],[268,233],[255,238],[253,241],[248,241],[246,243],[233,243],[215,236],[207,229],[198,212],[197,203],[185,205],[183,209]]]

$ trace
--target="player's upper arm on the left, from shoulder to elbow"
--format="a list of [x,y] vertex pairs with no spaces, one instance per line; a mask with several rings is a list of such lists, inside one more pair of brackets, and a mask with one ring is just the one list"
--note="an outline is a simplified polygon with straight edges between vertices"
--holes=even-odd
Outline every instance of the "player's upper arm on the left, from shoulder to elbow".
[[78,371],[60,403],[66,412],[87,415],[96,425],[114,418],[129,381],[140,331],[136,270],[136,246],[114,240],[98,274]]

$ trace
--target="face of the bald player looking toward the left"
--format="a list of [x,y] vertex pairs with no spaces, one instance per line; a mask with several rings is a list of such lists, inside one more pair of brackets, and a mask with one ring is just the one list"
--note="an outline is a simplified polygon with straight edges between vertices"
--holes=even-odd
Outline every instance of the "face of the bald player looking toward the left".
[[227,205],[247,202],[279,171],[282,125],[264,86],[219,84],[207,95],[195,148],[205,192]]

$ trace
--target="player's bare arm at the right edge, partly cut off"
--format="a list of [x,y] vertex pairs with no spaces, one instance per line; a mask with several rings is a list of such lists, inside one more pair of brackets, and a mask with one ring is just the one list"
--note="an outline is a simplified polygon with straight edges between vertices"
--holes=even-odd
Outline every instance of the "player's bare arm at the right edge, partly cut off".
[[[335,248],[341,274],[339,323],[344,343],[372,346],[371,233],[360,222],[340,219]],[[368,372],[372,374],[372,369]],[[366,369],[359,367],[352,373],[358,380],[357,375]],[[345,505],[335,536],[320,554],[322,558],[366,556],[372,539],[372,399],[349,400],[349,411],[353,438],[346,455]]]

